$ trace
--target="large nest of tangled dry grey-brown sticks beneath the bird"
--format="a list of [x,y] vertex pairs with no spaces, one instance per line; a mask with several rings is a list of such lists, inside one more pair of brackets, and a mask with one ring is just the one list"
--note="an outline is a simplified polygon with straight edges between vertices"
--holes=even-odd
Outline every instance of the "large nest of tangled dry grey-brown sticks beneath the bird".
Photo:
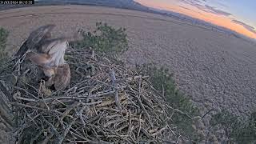
[[19,143],[159,143],[175,135],[172,108],[148,76],[90,49],[70,47],[65,58],[71,82],[62,91],[47,88],[25,57],[2,62]]

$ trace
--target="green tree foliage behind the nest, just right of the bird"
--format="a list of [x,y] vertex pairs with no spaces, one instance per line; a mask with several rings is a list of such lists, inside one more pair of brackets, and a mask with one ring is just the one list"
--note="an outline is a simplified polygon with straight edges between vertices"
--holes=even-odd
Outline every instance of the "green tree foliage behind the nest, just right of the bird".
[[106,23],[97,22],[93,33],[82,31],[82,41],[75,42],[75,47],[92,47],[106,54],[122,54],[128,49],[125,28],[115,29]]

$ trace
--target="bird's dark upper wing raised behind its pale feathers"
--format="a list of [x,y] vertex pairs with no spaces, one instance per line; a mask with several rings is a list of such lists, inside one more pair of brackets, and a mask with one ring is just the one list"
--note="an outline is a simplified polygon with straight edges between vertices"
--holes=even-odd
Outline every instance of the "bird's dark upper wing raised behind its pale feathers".
[[55,25],[46,25],[41,26],[37,30],[34,30],[30,33],[29,38],[26,40],[26,46],[30,50],[38,49],[39,42],[42,39],[50,35],[50,31],[55,27]]

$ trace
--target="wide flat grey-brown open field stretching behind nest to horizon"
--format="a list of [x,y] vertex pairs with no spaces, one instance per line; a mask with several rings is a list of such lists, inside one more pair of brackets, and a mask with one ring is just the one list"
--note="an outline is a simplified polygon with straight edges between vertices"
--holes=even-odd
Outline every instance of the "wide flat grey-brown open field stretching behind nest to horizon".
[[[96,22],[126,27],[126,62],[155,62],[174,72],[178,87],[202,113],[224,109],[245,116],[256,107],[256,46],[239,38],[157,14],[96,6],[41,6],[0,12],[10,31],[7,49],[18,50],[31,30],[54,23],[56,35],[94,30]],[[209,118],[208,118],[209,119]]]

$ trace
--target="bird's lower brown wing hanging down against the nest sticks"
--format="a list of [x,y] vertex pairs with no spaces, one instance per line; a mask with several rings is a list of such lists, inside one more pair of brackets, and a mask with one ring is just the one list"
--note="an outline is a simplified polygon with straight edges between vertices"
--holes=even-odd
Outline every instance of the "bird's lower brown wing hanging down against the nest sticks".
[[68,64],[58,66],[56,70],[56,75],[53,80],[54,80],[54,87],[56,90],[64,90],[66,86],[69,86],[70,66]]

